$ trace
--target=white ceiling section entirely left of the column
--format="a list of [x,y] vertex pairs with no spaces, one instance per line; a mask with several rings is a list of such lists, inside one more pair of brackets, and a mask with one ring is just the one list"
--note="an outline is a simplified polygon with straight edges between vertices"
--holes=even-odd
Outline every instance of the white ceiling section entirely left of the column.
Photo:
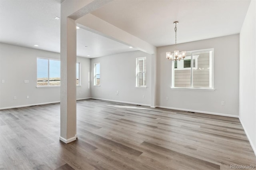
[[0,42],[59,53],[56,16],[60,17],[59,0],[0,0]]

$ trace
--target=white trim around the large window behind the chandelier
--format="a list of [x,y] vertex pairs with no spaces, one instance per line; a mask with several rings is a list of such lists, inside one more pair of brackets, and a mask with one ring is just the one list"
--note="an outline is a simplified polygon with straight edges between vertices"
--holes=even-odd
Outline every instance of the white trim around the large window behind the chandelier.
[[[189,52],[204,52],[204,51],[210,51],[210,56],[209,56],[209,85],[210,87],[174,87],[174,61],[172,61],[172,85],[171,85],[171,89],[189,89],[189,90],[209,90],[209,91],[214,91],[214,48],[209,48],[209,49],[202,49],[202,50],[194,50],[194,51],[187,51],[187,53]],[[197,55],[195,55],[197,56]],[[191,56],[190,56],[191,59]],[[197,62],[196,62],[197,64]],[[193,69],[193,67],[188,68],[188,69]],[[192,79],[192,78],[191,78]],[[192,82],[193,83],[193,82]],[[191,85],[192,86],[192,85]]]

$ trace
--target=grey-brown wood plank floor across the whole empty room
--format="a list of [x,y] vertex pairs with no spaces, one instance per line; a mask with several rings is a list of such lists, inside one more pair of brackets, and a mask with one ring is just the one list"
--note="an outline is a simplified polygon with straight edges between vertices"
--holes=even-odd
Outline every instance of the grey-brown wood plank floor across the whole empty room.
[[1,110],[0,169],[256,169],[232,117],[88,99],[77,102],[78,139],[59,135],[59,104]]

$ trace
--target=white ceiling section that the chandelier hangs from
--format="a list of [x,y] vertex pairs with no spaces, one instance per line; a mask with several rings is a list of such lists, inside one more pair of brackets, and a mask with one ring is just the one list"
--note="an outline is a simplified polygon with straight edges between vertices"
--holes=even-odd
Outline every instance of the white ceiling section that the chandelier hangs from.
[[114,0],[92,12],[156,47],[238,34],[250,0]]

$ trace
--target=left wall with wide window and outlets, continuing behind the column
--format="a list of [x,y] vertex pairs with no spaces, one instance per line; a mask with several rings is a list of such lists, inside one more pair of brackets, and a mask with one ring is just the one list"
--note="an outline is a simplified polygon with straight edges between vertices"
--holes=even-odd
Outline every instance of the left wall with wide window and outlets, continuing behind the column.
[[[5,81],[0,83],[0,109],[60,101],[60,87],[36,88],[36,57],[60,59],[60,53],[0,43],[0,79]],[[90,97],[90,59],[77,57],[77,61],[81,63],[81,86],[77,87],[77,98]],[[24,80],[29,80],[29,83],[24,83]]]

